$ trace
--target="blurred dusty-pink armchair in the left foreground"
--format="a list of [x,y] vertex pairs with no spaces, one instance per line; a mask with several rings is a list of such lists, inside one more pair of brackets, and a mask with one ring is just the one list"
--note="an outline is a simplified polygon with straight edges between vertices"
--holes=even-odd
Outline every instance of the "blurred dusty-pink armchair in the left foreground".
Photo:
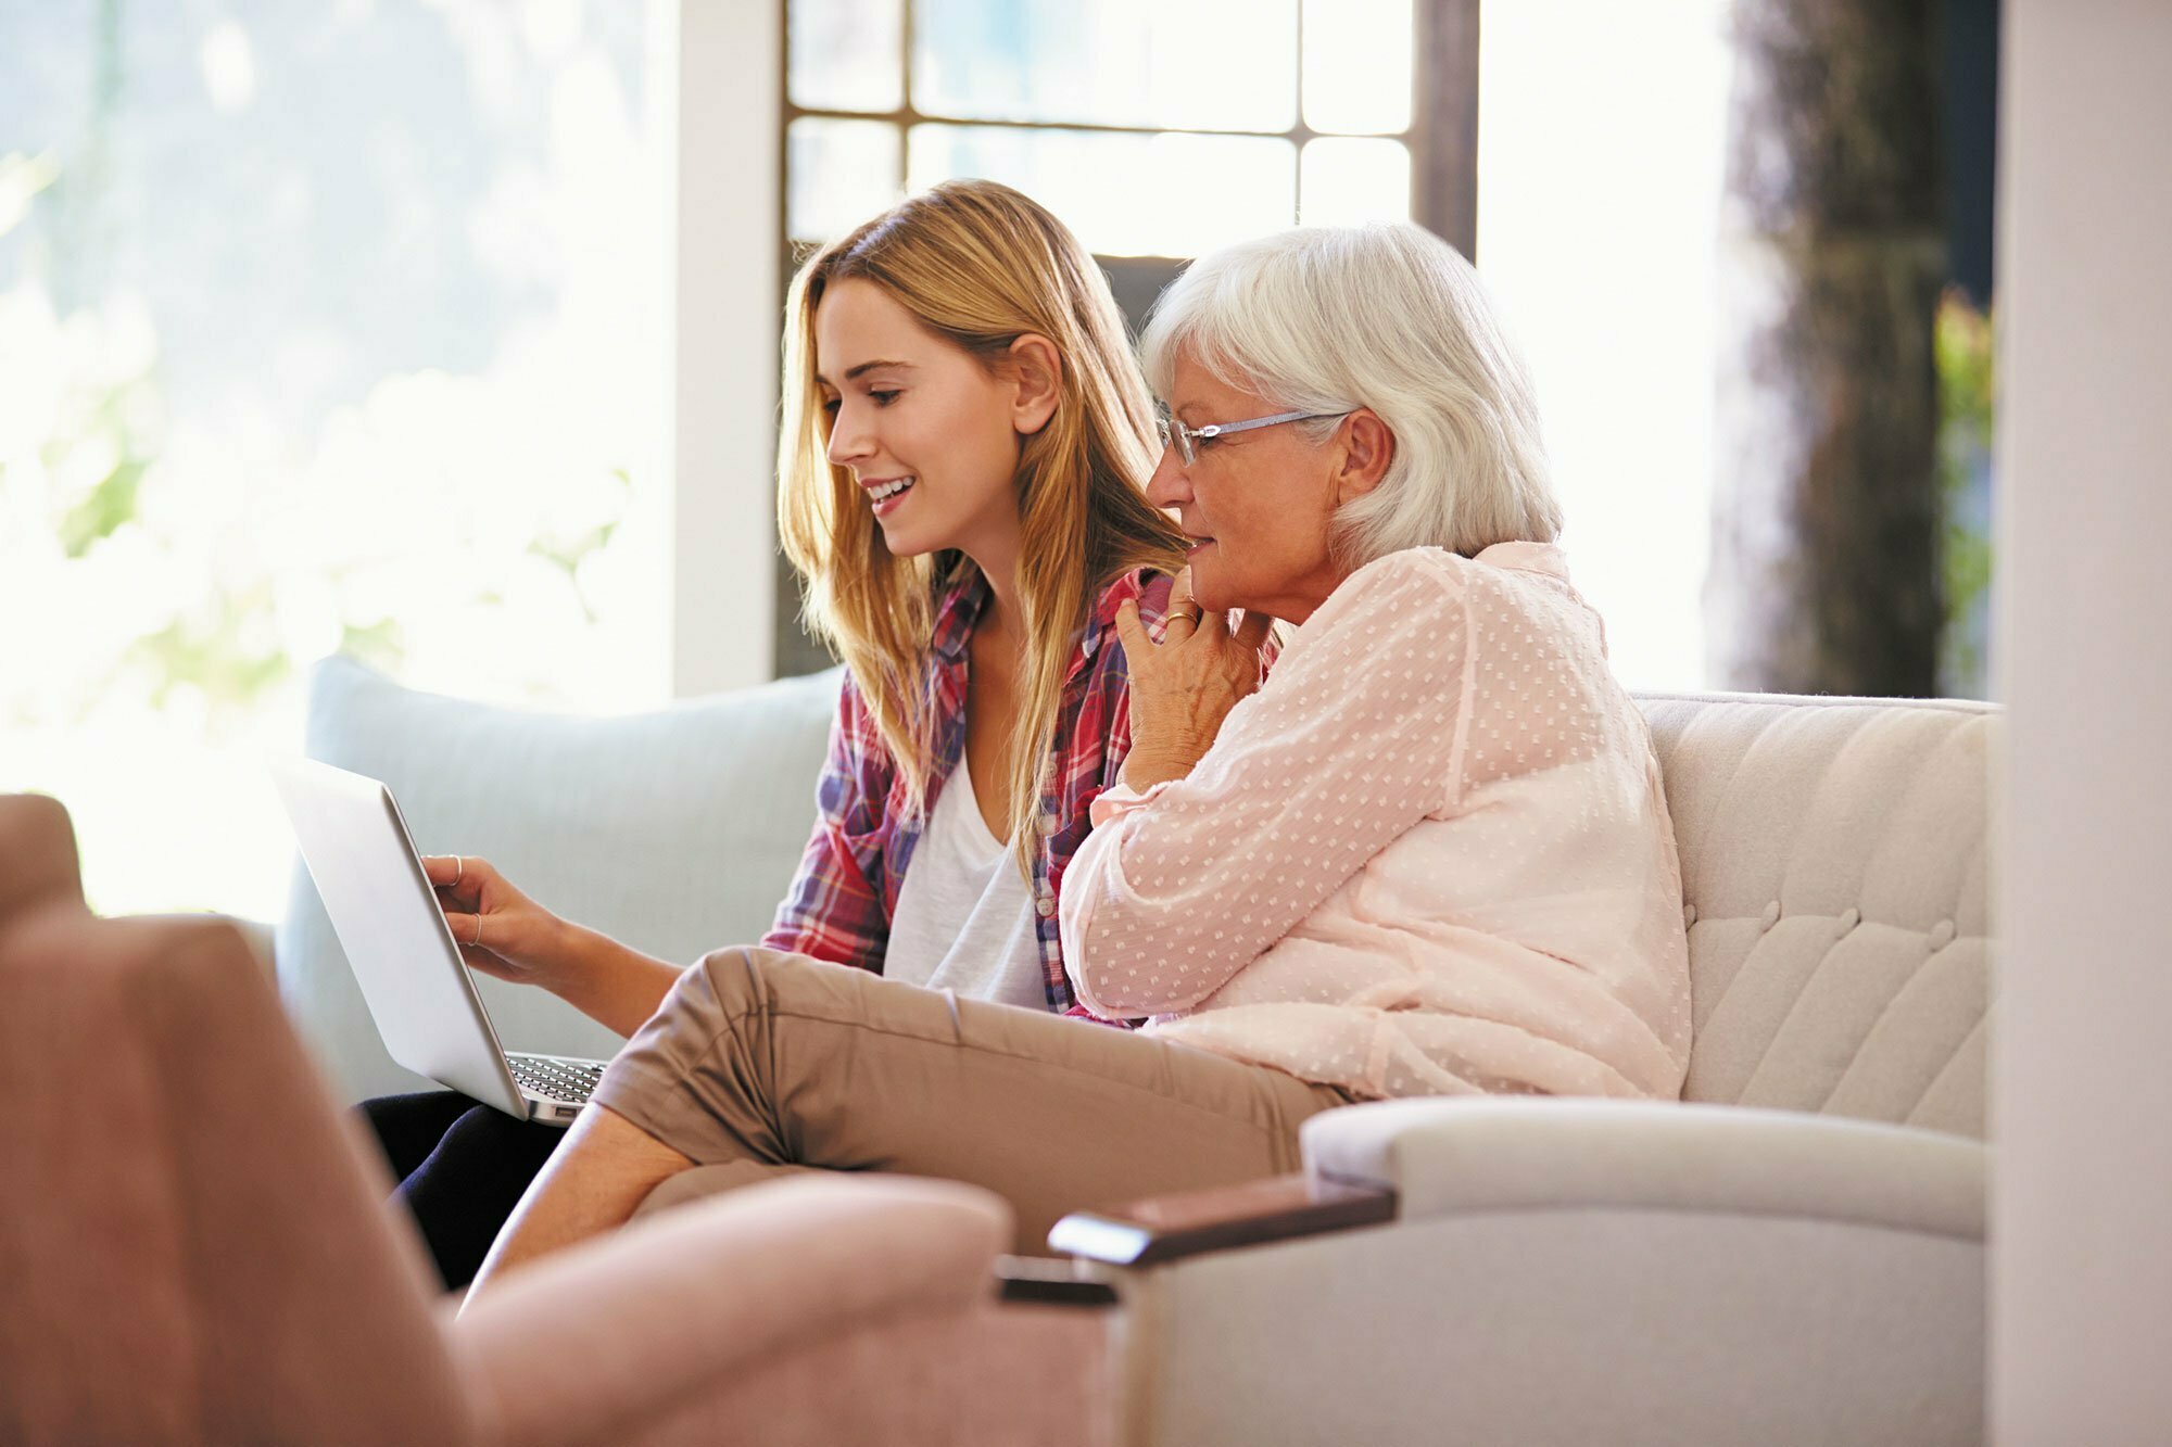
[[458,1312],[239,930],[96,919],[0,797],[0,1440],[1101,1443],[1108,1317],[999,1304],[990,1193],[804,1178]]

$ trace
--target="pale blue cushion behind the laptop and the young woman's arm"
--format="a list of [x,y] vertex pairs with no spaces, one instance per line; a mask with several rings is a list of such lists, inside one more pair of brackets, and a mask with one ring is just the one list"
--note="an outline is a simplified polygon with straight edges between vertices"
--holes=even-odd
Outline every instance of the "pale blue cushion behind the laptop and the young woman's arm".
[[[424,854],[480,854],[558,915],[693,962],[769,928],[815,823],[838,678],[573,717],[417,693],[326,658],[306,752],[391,784]],[[432,1089],[384,1054],[300,856],[276,956],[334,1089]],[[482,980],[482,997],[508,1049],[610,1058],[621,1043],[539,989]]]

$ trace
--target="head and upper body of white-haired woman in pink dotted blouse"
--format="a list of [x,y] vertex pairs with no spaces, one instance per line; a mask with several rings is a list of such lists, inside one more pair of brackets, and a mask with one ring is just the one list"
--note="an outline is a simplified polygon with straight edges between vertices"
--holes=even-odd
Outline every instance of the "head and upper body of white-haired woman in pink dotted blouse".
[[[1677,1095],[1659,767],[1470,265],[1407,224],[1234,246],[1145,352],[1147,498],[1197,602],[1162,643],[1119,617],[1134,734],[1066,876],[1079,1002],[1360,1097]],[[1297,630],[1251,693],[1260,617]]]

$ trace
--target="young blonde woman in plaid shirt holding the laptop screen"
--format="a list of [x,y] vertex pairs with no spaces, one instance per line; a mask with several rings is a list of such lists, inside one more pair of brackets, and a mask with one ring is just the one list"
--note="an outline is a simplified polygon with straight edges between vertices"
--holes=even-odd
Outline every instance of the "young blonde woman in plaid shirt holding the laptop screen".
[[[780,532],[847,678],[762,945],[1082,1015],[1056,899],[1129,752],[1116,613],[1158,619],[1184,563],[1142,493],[1156,421],[1108,282],[1025,196],[945,183],[801,267],[784,352]],[[680,980],[489,860],[426,867],[469,965],[621,1034]],[[365,1110],[465,1284],[563,1132],[454,1093]]]

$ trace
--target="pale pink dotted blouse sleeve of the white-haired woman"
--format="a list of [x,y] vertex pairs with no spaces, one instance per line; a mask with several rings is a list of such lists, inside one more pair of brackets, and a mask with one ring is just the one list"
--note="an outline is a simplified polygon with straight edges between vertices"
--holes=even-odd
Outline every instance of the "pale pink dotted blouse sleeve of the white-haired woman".
[[1420,552],[1338,587],[1205,758],[1112,789],[1064,878],[1064,969],[1097,1015],[1190,1010],[1460,795],[1470,619]]

